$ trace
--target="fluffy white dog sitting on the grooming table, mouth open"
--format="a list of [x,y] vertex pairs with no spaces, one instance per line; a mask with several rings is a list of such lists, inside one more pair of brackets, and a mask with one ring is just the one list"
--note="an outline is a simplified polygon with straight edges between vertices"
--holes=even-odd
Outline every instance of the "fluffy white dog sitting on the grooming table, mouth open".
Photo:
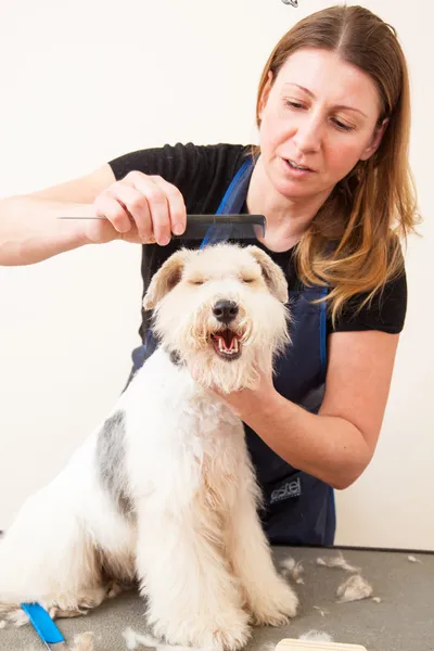
[[79,614],[107,596],[107,578],[138,580],[157,637],[215,649],[296,614],[257,515],[242,422],[209,388],[272,372],[286,302],[281,269],[256,246],[181,250],[162,266],[143,299],[161,345],[0,540],[3,610]]

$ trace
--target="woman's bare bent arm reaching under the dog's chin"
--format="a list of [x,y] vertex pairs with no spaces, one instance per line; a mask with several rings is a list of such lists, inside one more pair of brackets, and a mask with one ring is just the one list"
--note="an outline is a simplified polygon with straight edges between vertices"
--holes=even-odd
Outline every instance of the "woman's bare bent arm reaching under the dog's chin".
[[334,488],[353,484],[369,464],[388,397],[398,334],[336,332],[329,339],[326,395],[311,414],[276,392],[225,396],[240,418],[291,465]]

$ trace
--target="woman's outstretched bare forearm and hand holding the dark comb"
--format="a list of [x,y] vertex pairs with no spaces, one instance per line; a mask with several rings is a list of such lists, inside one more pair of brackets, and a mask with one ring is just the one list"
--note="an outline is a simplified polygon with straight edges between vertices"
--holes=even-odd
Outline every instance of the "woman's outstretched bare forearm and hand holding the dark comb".
[[164,245],[184,231],[186,212],[181,192],[164,178],[131,170],[116,181],[107,163],[86,177],[0,200],[0,265],[31,265],[119,238]]

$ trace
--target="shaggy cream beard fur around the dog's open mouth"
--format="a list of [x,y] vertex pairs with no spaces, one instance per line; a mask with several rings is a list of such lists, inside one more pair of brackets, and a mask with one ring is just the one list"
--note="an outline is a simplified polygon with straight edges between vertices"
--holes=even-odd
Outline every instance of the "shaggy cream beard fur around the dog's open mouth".
[[[218,323],[209,304],[177,319],[163,308],[156,314],[155,332],[203,387],[214,386],[221,393],[255,390],[263,373],[271,375],[276,355],[289,343],[285,308],[271,297],[267,303],[260,304],[256,314],[255,306],[239,304],[239,315],[229,326]],[[228,330],[237,339],[240,354],[231,355],[232,346],[227,349],[225,344],[219,354],[216,342]]]

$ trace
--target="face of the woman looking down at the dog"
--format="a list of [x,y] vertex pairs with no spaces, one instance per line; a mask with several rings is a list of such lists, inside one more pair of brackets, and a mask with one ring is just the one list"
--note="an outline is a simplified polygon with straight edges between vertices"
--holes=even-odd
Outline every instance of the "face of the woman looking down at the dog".
[[312,48],[294,52],[270,82],[271,76],[259,114],[266,175],[288,199],[326,200],[380,144],[374,82],[335,53]]

